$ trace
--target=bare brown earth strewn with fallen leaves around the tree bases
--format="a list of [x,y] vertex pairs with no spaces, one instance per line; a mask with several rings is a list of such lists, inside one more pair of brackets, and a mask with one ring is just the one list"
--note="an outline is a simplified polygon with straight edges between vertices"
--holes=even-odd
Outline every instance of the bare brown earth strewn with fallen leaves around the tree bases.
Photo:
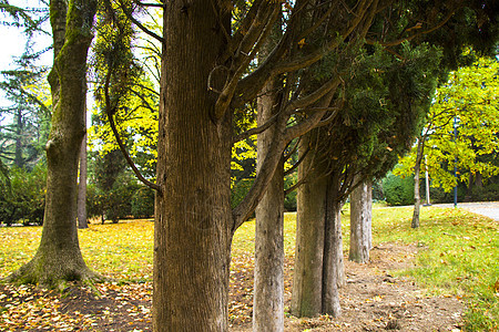
[[[459,299],[431,297],[415,280],[397,277],[397,271],[410,268],[417,251],[424,249],[381,243],[371,250],[367,264],[346,260],[342,317],[296,319],[286,314],[285,331],[460,331],[465,307]],[[286,259],[287,308],[292,259]],[[251,331],[252,284],[252,268],[234,269],[231,273],[231,331]],[[108,282],[94,288],[70,284],[62,293],[29,286],[0,286],[0,330],[150,331],[151,293],[151,282]],[[9,314],[2,315],[4,312]]]

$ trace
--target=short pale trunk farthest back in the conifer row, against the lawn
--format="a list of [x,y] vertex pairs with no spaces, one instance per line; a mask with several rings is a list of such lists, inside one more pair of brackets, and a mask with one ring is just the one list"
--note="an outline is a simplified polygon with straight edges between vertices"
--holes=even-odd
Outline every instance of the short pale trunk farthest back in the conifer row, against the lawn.
[[359,263],[369,261],[371,247],[371,191],[369,180],[350,194],[350,247],[348,259]]

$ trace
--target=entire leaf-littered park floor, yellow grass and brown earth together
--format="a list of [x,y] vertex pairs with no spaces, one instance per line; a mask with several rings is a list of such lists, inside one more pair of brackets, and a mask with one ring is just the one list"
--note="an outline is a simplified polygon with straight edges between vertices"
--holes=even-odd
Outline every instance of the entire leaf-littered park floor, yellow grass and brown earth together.
[[[458,301],[455,290],[438,286],[438,282],[437,286],[431,286],[436,281],[426,279],[432,276],[434,264],[439,269],[441,267],[447,269],[462,264],[461,262],[468,259],[471,262],[469,269],[476,270],[477,267],[470,259],[470,255],[476,252],[487,256],[485,268],[490,269],[491,261],[497,258],[497,227],[472,214],[424,209],[420,229],[413,230],[409,228],[410,212],[410,209],[397,209],[396,212],[390,209],[375,209],[373,259],[368,264],[346,261],[348,282],[340,290],[343,317],[339,319],[327,315],[296,319],[289,315],[296,222],[294,214],[286,214],[285,330],[379,331],[391,326],[409,331],[410,326],[416,326],[420,331],[434,331],[444,325],[450,330],[461,329],[464,307]],[[343,220],[345,220],[346,250],[347,211],[343,215]],[[34,255],[40,229],[37,227],[0,229],[1,277],[8,276]],[[70,284],[62,293],[29,286],[0,286],[1,331],[152,329],[153,222],[128,220],[115,225],[91,225],[89,229],[80,230],[79,234],[81,249],[89,267],[115,281],[98,283],[94,289]],[[483,241],[480,242],[480,239]],[[447,247],[437,245],[441,247],[441,251],[437,251],[436,246],[432,246],[435,241],[446,242]],[[456,243],[466,246],[456,248]],[[431,251],[438,252],[437,260],[434,256],[427,256]],[[442,264],[440,259],[447,264]],[[420,267],[415,268],[415,263]],[[232,331],[251,331],[253,266],[254,222],[248,221],[237,230],[233,243],[228,308]],[[394,272],[400,269],[406,272]],[[414,272],[418,269],[420,274]],[[462,271],[456,273],[458,276],[455,276],[452,282],[459,283],[459,287],[466,286],[466,289],[469,289],[481,282],[472,278],[475,276],[472,271],[469,272],[471,274]],[[482,274],[490,277],[490,273],[483,271]],[[483,278],[483,284],[488,284],[490,292],[495,291],[497,280],[486,279]],[[420,284],[438,288],[440,291],[428,292],[421,290]],[[466,289],[459,297],[465,295]],[[492,309],[493,305],[497,308],[497,299],[496,302],[487,303]],[[493,310],[489,309],[483,313],[487,309],[480,305],[478,303],[473,310],[481,312],[481,317],[489,314],[492,319],[497,318]],[[430,317],[435,319],[428,321]]]

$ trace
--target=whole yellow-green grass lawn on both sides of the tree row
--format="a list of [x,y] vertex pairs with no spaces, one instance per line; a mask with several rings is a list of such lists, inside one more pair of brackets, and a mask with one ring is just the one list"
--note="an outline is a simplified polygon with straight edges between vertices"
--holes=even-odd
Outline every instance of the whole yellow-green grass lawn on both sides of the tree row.
[[[468,331],[499,329],[499,222],[461,209],[422,208],[419,229],[410,229],[410,208],[375,207],[374,245],[416,243],[417,268],[401,271],[429,293],[451,293],[468,305]],[[343,215],[344,247],[348,248],[348,211]],[[285,217],[285,251],[293,261],[295,214]],[[91,225],[80,230],[88,264],[124,282],[152,280],[153,222],[129,220]],[[252,270],[254,222],[243,225],[234,238],[231,273]],[[28,261],[37,249],[40,227],[0,228],[0,278]],[[243,290],[242,290],[243,291]],[[286,292],[291,290],[287,289]],[[1,313],[1,311],[0,311]]]

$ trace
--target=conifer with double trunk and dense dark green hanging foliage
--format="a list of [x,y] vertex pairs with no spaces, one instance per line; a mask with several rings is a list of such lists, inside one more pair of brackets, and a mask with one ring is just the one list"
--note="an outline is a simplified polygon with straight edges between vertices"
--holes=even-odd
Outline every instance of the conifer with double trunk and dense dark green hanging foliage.
[[310,151],[310,160],[301,164],[298,177],[304,184],[298,189],[295,315],[340,313],[342,206],[359,184],[395,165],[430,100],[439,52],[405,43],[398,54],[403,60],[381,49],[359,52],[345,80],[342,110],[326,127],[307,134],[303,149]]

